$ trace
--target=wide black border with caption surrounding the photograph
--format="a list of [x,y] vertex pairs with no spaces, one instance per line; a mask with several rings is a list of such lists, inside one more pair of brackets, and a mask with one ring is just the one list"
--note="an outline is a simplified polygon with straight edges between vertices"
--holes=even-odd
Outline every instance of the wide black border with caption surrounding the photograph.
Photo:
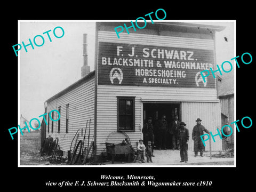
[[[63,5],[66,4],[66,5]],[[14,185],[19,190],[26,191],[56,190],[57,187],[46,187],[47,181],[69,180],[100,180],[101,174],[111,175],[154,175],[158,181],[199,181],[211,180],[211,189],[234,190],[239,187],[250,188],[253,186],[253,167],[254,167],[254,135],[255,135],[255,113],[254,113],[254,71],[255,71],[255,34],[254,34],[254,13],[253,4],[242,2],[228,3],[196,2],[174,4],[173,2],[145,2],[142,6],[132,2],[118,2],[117,4],[98,2],[84,3],[83,5],[75,2],[45,3],[40,6],[27,5],[22,2],[20,6],[15,3],[11,6],[5,4],[6,12],[2,12],[4,28],[1,30],[4,45],[2,46],[3,71],[7,75],[2,75],[2,102],[4,103],[2,116],[3,121],[3,156],[2,166],[7,167],[2,181],[3,188]],[[148,4],[148,7],[145,6]],[[23,8],[23,9],[21,9]],[[252,118],[253,126],[250,129],[241,129],[237,132],[237,167],[18,167],[18,137],[14,136],[11,140],[7,131],[10,127],[18,124],[18,58],[12,50],[12,45],[18,42],[18,20],[98,20],[98,19],[136,19],[149,12],[162,8],[166,11],[166,20],[236,20],[236,55],[249,52],[253,61],[250,65],[241,65],[236,72],[236,119],[244,116]],[[33,11],[34,10],[34,11]],[[241,62],[241,60],[238,60]],[[240,125],[240,124],[239,124]],[[241,126],[241,125],[240,125]],[[250,172],[252,174],[250,174]],[[66,187],[72,189],[72,187]],[[96,187],[94,187],[96,188]],[[94,189],[92,188],[92,189]],[[117,188],[117,187],[116,187]],[[185,190],[186,188],[172,187],[163,189]],[[63,188],[62,188],[63,189]],[[75,188],[89,189],[89,188]],[[109,188],[113,190],[112,188]],[[123,189],[123,188],[122,188]],[[130,189],[130,188],[128,188]],[[132,190],[133,188],[131,188]],[[146,189],[146,188],[143,188]],[[160,189],[160,187],[155,188]],[[208,190],[209,187],[196,189]],[[108,190],[108,188],[103,188]],[[120,190],[120,189],[119,189]]]

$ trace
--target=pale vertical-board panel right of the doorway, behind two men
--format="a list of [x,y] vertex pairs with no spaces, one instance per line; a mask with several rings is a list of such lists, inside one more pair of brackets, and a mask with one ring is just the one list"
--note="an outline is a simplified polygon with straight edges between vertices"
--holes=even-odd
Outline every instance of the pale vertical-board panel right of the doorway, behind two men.
[[[194,142],[192,140],[193,127],[196,125],[196,119],[202,119],[202,125],[212,134],[217,134],[217,127],[221,132],[221,114],[220,102],[182,102],[181,103],[181,121],[186,123],[189,130],[189,150],[194,150]],[[207,137],[205,137],[206,139]],[[222,150],[222,141],[217,135],[214,137],[215,142],[211,141],[213,151]],[[205,141],[205,150],[210,150],[209,141]]]

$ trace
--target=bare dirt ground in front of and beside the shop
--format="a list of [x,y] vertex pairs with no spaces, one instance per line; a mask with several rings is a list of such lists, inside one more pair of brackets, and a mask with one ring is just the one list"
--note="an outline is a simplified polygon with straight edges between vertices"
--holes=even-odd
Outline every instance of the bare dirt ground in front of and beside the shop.
[[[41,140],[40,132],[30,132],[20,135],[20,165],[67,165],[66,162],[52,162],[51,156],[41,156]],[[212,152],[212,158],[210,159],[209,151],[204,153],[204,157],[194,157],[193,151],[188,151],[188,162],[180,163],[180,151],[179,150],[155,150],[155,157],[153,157],[153,163],[127,163],[125,159],[120,161],[116,158],[115,164],[111,164],[110,159],[101,163],[95,163],[94,165],[234,165],[234,157],[219,151]],[[145,157],[146,159],[146,157]],[[51,162],[51,163],[50,163]]]

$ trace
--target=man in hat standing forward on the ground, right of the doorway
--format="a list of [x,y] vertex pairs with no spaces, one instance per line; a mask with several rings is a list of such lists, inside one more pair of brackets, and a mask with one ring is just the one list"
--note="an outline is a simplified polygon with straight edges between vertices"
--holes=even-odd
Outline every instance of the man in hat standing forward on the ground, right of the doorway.
[[188,162],[188,139],[189,133],[188,129],[185,128],[186,124],[184,122],[180,122],[180,129],[178,131],[178,143],[180,145],[180,162],[187,163]]

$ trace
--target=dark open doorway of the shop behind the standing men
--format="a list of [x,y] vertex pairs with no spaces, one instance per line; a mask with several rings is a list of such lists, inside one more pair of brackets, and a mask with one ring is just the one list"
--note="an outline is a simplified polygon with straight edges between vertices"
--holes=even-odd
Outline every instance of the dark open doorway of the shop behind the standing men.
[[[163,115],[165,115],[166,121],[169,125],[174,120],[175,115],[178,115],[179,119],[181,119],[180,103],[162,103],[162,102],[143,103],[143,124],[145,124],[148,121],[149,117],[152,118],[156,148],[158,147],[157,122],[160,119],[162,119]],[[173,148],[170,134],[167,134],[166,136],[166,147],[167,149]]]

